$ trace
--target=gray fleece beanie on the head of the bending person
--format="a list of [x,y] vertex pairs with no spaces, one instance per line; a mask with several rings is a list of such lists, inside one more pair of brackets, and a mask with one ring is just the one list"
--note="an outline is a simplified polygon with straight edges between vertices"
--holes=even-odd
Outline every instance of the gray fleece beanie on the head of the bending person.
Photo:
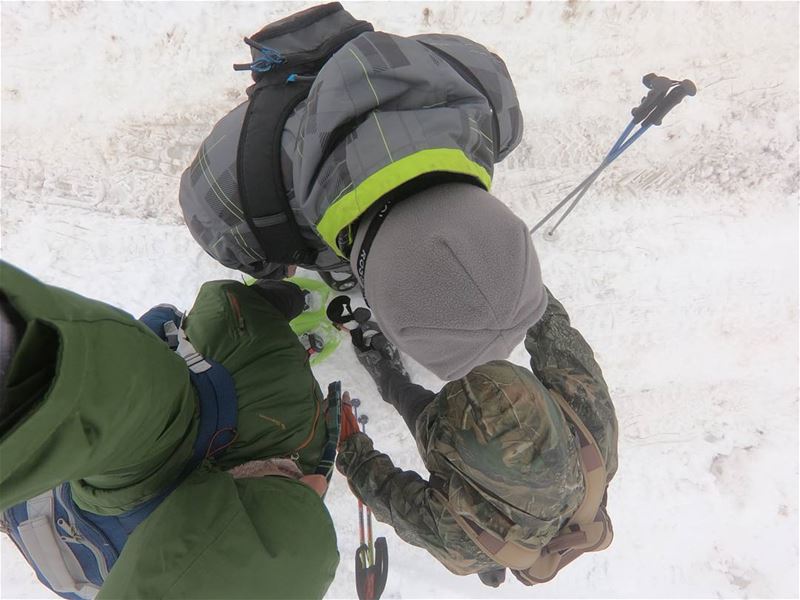
[[[376,212],[358,227],[354,273]],[[394,205],[369,248],[364,280],[386,337],[448,381],[506,358],[547,306],[528,227],[466,183],[434,186]]]

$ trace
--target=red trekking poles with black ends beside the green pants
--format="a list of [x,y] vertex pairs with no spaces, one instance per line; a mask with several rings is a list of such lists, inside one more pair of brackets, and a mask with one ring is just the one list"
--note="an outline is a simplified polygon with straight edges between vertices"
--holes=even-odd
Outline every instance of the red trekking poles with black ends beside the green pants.
[[[361,433],[366,434],[367,415],[358,414],[361,401],[353,398],[351,401],[353,413],[361,425]],[[366,534],[364,532],[364,514],[366,513]],[[358,499],[358,539],[356,549],[356,592],[359,600],[378,600],[386,587],[386,578],[389,569],[389,549],[386,538],[372,539],[372,511],[361,498]]]

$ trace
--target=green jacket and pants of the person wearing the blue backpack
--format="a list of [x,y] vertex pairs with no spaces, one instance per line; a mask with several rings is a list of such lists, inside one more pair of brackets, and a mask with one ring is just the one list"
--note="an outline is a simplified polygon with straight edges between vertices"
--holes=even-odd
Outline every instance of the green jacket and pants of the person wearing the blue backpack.
[[0,510],[69,482],[83,514],[113,517],[179,482],[98,597],[322,597],[339,555],[314,474],[326,399],[289,327],[302,309],[288,282],[202,286],[183,329],[232,377],[238,418],[186,475],[201,420],[184,359],[125,312],[0,262]]

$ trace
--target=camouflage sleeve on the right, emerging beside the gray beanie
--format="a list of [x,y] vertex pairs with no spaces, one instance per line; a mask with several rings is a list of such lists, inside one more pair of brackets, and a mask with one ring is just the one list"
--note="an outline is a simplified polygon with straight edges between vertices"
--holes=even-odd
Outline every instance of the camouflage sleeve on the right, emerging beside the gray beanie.
[[560,393],[592,432],[606,462],[608,480],[617,470],[617,417],[603,372],[583,336],[570,325],[564,306],[547,290],[547,309],[528,330],[531,369]]

